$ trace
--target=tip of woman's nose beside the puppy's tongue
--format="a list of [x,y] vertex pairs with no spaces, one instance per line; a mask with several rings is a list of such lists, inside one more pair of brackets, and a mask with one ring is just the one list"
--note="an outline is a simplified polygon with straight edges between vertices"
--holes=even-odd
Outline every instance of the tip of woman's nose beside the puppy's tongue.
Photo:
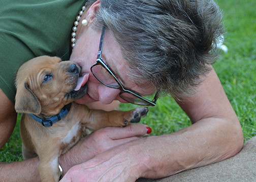
[[110,88],[105,85],[99,85],[98,87],[99,101],[102,104],[110,104],[116,100],[120,90],[117,88]]

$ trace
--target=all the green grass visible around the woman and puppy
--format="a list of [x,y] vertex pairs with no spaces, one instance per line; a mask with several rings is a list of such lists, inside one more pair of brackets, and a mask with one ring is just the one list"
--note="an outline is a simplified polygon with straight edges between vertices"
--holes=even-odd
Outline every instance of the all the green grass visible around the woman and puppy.
[[[223,9],[227,34],[227,54],[221,54],[214,68],[234,107],[245,142],[256,135],[256,2],[254,0],[218,0]],[[122,110],[136,106],[121,104]],[[152,128],[151,135],[175,132],[190,125],[189,118],[172,98],[164,97],[150,108],[142,123]],[[0,161],[21,160],[19,121],[8,143],[0,150]]]

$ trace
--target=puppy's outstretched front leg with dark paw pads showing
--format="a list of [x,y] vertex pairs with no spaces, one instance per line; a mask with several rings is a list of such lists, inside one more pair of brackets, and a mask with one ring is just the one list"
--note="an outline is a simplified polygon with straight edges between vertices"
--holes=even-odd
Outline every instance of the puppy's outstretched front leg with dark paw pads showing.
[[138,107],[130,111],[90,110],[90,118],[85,121],[85,125],[92,131],[106,126],[126,126],[129,123],[140,122],[141,117],[145,117],[147,113],[147,107]]

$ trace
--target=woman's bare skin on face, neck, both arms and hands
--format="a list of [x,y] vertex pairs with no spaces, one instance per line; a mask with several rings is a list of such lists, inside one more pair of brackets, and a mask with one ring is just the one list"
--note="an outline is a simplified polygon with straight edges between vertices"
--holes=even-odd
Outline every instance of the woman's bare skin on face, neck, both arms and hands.
[[[110,104],[113,100],[124,102],[118,96],[118,89],[102,85],[89,70],[95,63],[99,48],[101,32],[91,28],[99,6],[100,1],[95,2],[83,15],[89,24],[78,27],[78,41],[71,56],[72,61],[82,66],[83,73],[89,73],[88,94],[77,102],[92,107],[94,101],[102,104]],[[143,90],[129,82],[127,75],[121,74],[126,71],[125,62],[109,31],[105,34],[103,61],[119,73],[127,88],[142,95],[150,95],[154,91],[154,88]],[[16,113],[2,90],[0,99],[2,147],[13,131]],[[60,165],[65,174],[61,181],[135,181],[139,177],[165,177],[227,159],[241,150],[243,133],[240,123],[213,69],[194,96],[180,98],[177,103],[189,116],[192,125],[171,134],[146,138],[138,137],[146,134],[146,125],[143,124],[95,131],[61,156]],[[38,162],[38,158],[33,158],[0,163],[0,178],[3,181],[40,181]]]

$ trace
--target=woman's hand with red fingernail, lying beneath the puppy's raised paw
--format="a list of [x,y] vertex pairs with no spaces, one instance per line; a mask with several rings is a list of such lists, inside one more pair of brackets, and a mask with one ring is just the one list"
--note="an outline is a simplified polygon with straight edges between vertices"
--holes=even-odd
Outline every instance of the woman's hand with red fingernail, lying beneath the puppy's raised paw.
[[59,163],[65,174],[72,166],[88,161],[104,151],[136,140],[139,136],[146,136],[150,131],[151,129],[144,124],[99,129],[81,139],[70,151],[60,156]]

